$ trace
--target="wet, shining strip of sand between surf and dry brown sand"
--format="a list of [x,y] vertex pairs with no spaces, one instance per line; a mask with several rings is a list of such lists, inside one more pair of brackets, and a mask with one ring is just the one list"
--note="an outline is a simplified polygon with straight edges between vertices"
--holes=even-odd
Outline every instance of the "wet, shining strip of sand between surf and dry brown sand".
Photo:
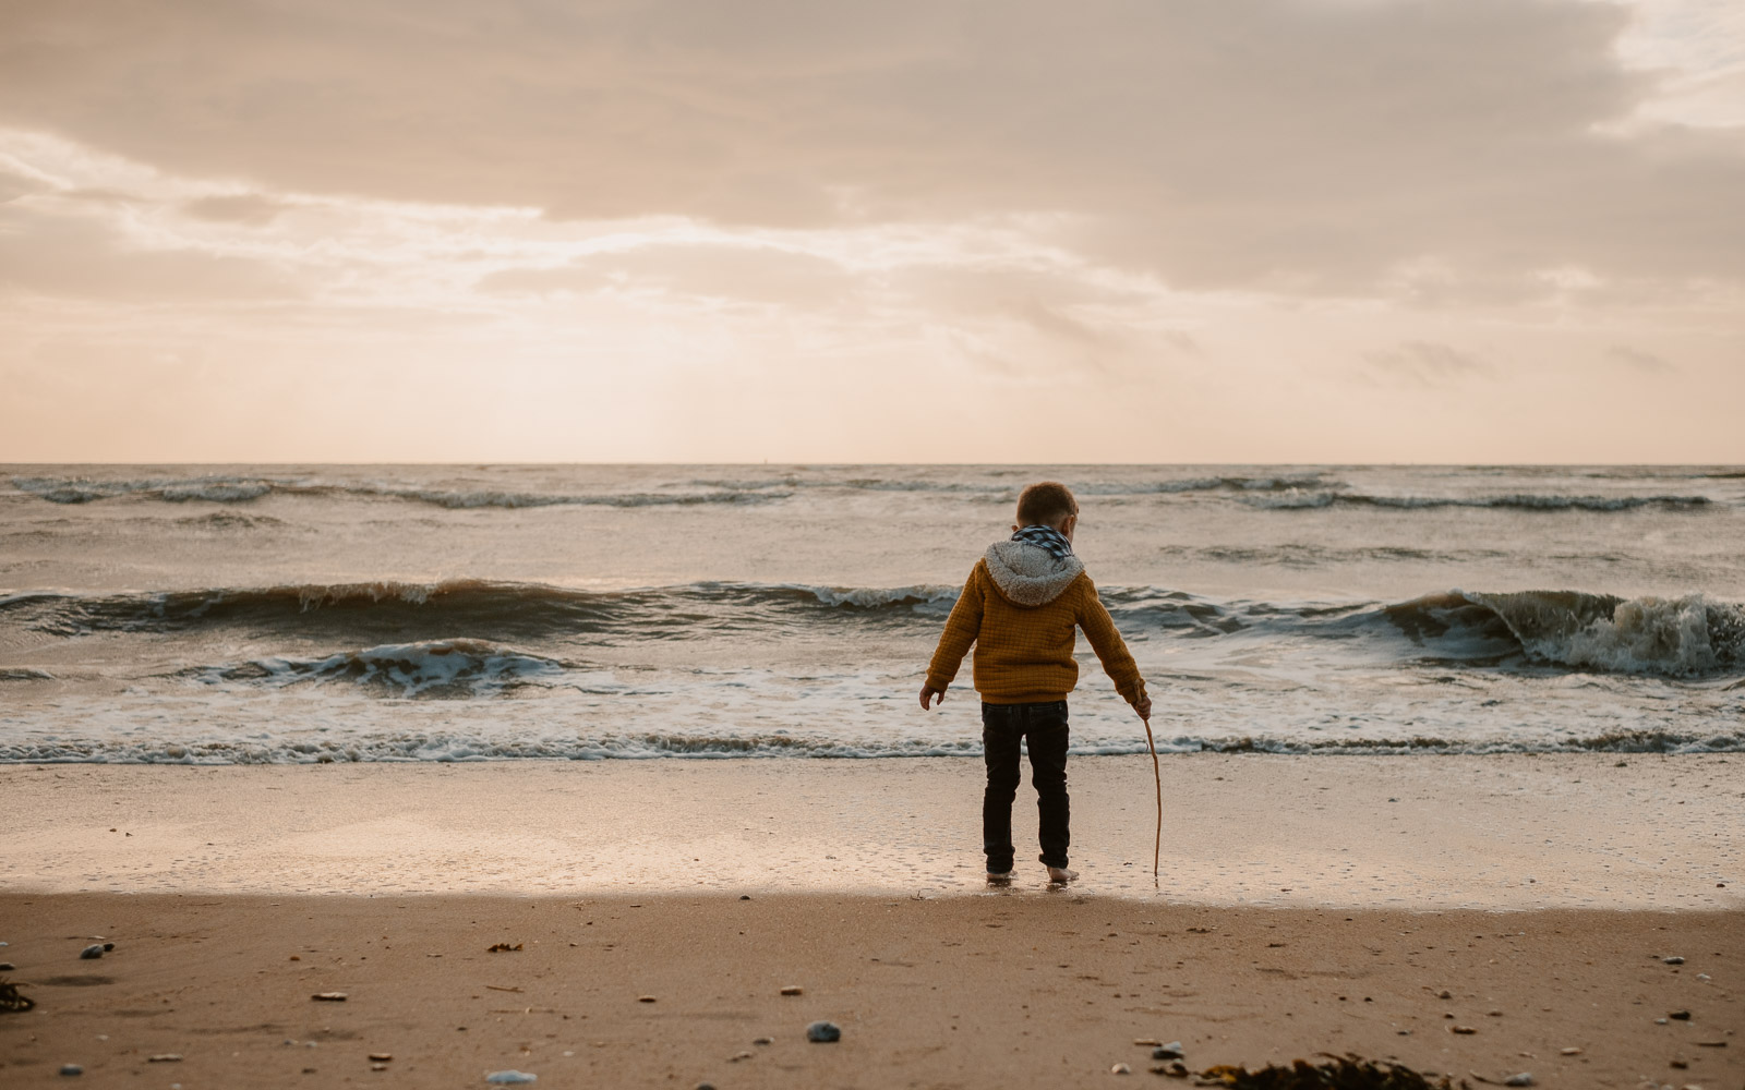
[[[1070,764],[1082,891],[1146,903],[1745,909],[1729,755]],[[956,759],[0,767],[0,893],[977,893]],[[1028,785],[1019,886],[1042,884]]]

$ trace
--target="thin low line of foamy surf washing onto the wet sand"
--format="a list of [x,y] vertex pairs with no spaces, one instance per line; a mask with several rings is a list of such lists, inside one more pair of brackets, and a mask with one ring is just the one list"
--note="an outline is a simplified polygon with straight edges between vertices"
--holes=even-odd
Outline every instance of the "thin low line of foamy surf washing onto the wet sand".
[[[1080,739],[1075,757],[1139,757],[1143,738]],[[1745,731],[1612,731],[1584,738],[1352,738],[1286,736],[1159,738],[1166,760],[1188,753],[1300,757],[1488,755],[1488,753],[1738,753]],[[981,760],[981,738],[827,738],[785,732],[682,734],[642,731],[604,736],[548,734],[504,738],[468,731],[403,731],[352,738],[187,738],[187,739],[21,739],[0,741],[0,764],[347,764],[478,760],[770,760],[921,759]]]

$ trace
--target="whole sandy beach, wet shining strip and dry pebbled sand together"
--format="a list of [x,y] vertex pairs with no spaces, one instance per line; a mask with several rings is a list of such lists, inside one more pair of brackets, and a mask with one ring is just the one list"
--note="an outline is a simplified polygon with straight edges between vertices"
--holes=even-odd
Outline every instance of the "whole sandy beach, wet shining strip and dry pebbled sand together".
[[7,767],[7,1080],[1082,1085],[1152,1080],[1138,1039],[1745,1078],[1736,760],[1164,767],[1157,891],[1143,759],[1073,764],[1064,891],[984,888],[974,762]]

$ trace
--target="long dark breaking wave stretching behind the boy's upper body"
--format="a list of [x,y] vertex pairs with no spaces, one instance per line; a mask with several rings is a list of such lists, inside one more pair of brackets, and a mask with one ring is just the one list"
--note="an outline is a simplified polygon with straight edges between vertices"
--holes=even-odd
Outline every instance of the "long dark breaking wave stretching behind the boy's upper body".
[[[937,635],[956,596],[951,584],[689,582],[574,589],[480,579],[117,595],[35,591],[0,596],[0,626],[63,638],[234,630],[269,647],[274,633],[340,647],[480,640],[544,654],[579,644],[733,640],[757,633],[775,640],[853,640],[879,631],[923,640]],[[1666,678],[1745,671],[1745,607],[1700,593],[1621,598],[1583,591],[1447,591],[1380,603],[1215,600],[1169,588],[1105,586],[1101,596],[1122,631],[1134,638],[1335,640],[1377,664],[1434,659]]]

